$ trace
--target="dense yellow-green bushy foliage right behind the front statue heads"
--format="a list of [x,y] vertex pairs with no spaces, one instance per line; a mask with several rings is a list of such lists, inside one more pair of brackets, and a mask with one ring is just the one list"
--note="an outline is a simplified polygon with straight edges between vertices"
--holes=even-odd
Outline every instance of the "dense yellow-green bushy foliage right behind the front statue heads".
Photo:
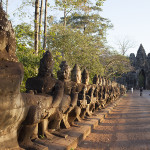
[[100,50],[94,46],[93,40],[93,36],[87,36],[80,30],[55,24],[49,29],[47,44],[53,54],[59,52],[60,60],[66,60],[71,67],[79,64],[81,69],[87,68],[93,77],[96,73],[103,73]]

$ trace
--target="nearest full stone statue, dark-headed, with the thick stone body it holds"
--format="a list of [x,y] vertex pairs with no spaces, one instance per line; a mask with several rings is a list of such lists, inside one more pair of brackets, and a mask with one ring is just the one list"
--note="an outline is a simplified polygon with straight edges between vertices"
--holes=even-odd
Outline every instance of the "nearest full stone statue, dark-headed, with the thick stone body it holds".
[[64,88],[61,81],[53,78],[52,69],[53,58],[47,51],[40,60],[38,76],[29,78],[26,82],[27,92],[33,94],[23,94],[23,98],[26,99],[26,102],[29,101],[30,105],[19,134],[19,143],[23,148],[36,149],[35,143],[32,143],[31,139],[37,140],[40,136],[51,139],[49,122],[53,121],[51,129],[60,128],[62,116],[59,105]]

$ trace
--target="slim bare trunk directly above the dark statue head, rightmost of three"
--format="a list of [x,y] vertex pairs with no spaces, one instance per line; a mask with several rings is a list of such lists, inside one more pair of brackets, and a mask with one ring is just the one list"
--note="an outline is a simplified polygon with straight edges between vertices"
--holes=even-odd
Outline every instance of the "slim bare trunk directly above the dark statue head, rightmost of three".
[[47,0],[45,0],[44,42],[43,42],[43,49],[45,51],[46,51],[46,39],[47,39]]

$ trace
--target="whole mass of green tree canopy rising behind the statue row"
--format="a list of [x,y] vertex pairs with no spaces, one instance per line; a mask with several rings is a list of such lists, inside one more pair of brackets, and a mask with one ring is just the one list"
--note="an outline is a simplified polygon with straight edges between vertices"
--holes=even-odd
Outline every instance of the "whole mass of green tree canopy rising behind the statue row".
[[[28,77],[36,75],[40,58],[45,50],[41,45],[45,42],[46,50],[50,50],[54,56],[56,78],[62,60],[66,60],[71,67],[79,64],[81,69],[87,68],[91,79],[95,74],[112,78],[130,71],[129,59],[114,53],[107,46],[107,31],[113,25],[109,19],[100,15],[105,0],[47,0],[44,8],[48,9],[46,11],[40,5],[43,5],[42,0],[35,2],[37,1],[38,6],[33,0],[22,0],[20,8],[26,6],[33,12],[36,10],[34,7],[40,9],[38,12],[41,16],[37,22],[40,27],[38,33],[40,40],[36,42],[39,44],[38,55],[35,55],[34,49],[34,35],[38,31],[34,29],[36,17],[29,15],[32,24],[28,20],[15,26],[17,56],[25,68],[24,83]],[[52,11],[60,12],[62,15],[56,16],[57,13],[53,13],[53,15],[47,13]],[[45,17],[43,12],[45,12]],[[28,12],[25,13],[28,14]],[[23,10],[21,10],[21,14],[24,14]]]

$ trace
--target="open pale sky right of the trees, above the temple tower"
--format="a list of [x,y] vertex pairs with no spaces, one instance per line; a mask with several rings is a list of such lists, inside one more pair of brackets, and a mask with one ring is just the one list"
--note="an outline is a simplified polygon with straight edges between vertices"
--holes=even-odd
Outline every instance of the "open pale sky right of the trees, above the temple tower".
[[150,53],[150,0],[106,0],[102,9],[101,15],[114,25],[107,35],[110,46],[118,48],[117,41],[127,39],[134,48],[126,55],[136,55],[140,44]]

